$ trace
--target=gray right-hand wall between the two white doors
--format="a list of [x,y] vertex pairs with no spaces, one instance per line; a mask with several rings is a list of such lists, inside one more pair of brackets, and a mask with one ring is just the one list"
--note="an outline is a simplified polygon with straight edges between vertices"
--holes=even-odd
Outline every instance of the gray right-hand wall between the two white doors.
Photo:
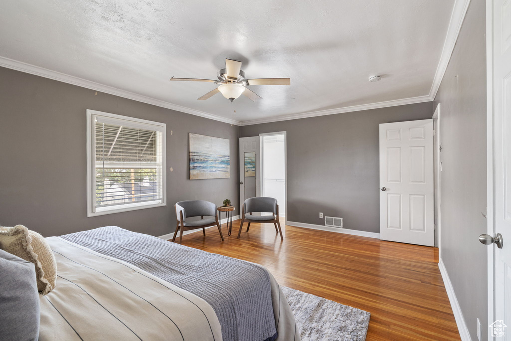
[[[447,72],[440,103],[440,252],[473,340],[476,319],[486,339],[486,59],[485,3],[471,1]],[[491,322],[491,321],[490,321]]]

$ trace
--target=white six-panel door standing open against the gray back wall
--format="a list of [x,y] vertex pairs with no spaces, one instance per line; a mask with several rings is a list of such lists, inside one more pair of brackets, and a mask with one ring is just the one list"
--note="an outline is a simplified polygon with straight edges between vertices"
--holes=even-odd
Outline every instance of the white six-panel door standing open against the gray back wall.
[[380,238],[433,246],[433,209],[433,120],[380,124]]

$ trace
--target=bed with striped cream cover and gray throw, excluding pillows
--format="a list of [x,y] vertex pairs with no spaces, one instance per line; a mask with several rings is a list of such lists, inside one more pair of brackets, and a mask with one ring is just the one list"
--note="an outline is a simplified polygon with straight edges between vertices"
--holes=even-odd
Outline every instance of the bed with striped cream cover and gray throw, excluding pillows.
[[41,340],[300,340],[259,264],[117,226],[46,239],[58,278],[40,294]]

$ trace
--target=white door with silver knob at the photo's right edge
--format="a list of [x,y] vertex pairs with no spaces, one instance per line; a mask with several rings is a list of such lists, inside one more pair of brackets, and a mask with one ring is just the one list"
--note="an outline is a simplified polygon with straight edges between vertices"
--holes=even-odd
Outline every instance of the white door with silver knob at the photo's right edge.
[[493,124],[489,124],[488,131],[491,236],[487,237],[500,234],[502,240],[502,248],[495,243],[487,246],[491,247],[488,258],[490,281],[493,280],[489,287],[494,289],[493,295],[491,292],[489,295],[488,323],[492,324],[489,337],[511,340],[511,0],[493,0],[488,4],[487,28],[491,30],[487,32],[490,65],[487,115]]

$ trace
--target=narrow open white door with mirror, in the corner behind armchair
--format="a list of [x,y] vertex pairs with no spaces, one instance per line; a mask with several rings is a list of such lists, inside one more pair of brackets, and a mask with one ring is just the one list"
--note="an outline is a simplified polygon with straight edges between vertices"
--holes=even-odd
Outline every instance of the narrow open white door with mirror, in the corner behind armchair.
[[[255,153],[254,172],[249,171],[252,153]],[[261,137],[259,136],[240,138],[240,214],[243,201],[253,196],[261,196]]]

